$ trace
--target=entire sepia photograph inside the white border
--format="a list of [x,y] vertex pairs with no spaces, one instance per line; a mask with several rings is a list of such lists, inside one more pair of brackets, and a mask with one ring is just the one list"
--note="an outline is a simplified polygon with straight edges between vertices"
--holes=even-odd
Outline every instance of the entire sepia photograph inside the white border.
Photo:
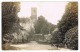
[[78,50],[77,1],[1,2],[2,50]]

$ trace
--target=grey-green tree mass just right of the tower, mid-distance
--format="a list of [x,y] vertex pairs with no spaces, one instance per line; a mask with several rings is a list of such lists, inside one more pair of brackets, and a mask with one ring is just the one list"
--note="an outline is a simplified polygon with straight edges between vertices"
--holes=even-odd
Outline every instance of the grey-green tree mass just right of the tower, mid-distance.
[[55,25],[47,22],[47,20],[43,16],[39,16],[37,23],[35,24],[35,32],[36,34],[49,34],[55,28]]

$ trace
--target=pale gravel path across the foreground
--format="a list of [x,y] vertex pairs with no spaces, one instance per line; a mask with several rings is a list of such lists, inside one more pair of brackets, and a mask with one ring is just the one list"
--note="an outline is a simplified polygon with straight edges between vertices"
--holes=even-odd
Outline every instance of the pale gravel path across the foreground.
[[70,50],[65,48],[57,49],[55,46],[39,44],[36,41],[25,44],[12,44],[11,46],[17,47],[18,50]]

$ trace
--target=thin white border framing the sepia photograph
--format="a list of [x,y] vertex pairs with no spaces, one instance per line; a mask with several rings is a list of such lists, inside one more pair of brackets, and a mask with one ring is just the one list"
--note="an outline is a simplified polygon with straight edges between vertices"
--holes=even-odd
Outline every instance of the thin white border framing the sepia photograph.
[[[12,1],[14,1],[14,2],[18,2],[18,1],[78,1],[78,0],[0,0],[0,6],[1,6],[1,2],[12,2]],[[78,1],[78,7],[80,6],[80,3],[79,3],[79,1]],[[78,8],[78,10],[80,9],[80,7]],[[1,11],[1,7],[0,7],[0,11]],[[80,10],[79,10],[79,12],[80,12]],[[0,12],[0,16],[1,16],[1,12]],[[2,16],[1,16],[2,17]],[[2,35],[1,34],[1,32],[2,32],[2,18],[0,17],[0,35]],[[79,17],[80,17],[80,15],[79,15],[79,13],[78,13],[78,20],[79,20]],[[80,26],[80,20],[79,20],[79,22],[78,22],[78,25]],[[79,27],[78,26],[78,27]],[[80,28],[78,28],[78,29],[80,29]],[[78,30],[78,33],[79,33],[80,31]],[[0,36],[0,38],[1,38],[2,36]],[[78,40],[80,39],[80,34],[78,34]],[[80,40],[79,40],[79,43],[80,43]],[[0,39],[0,46],[2,47],[2,45],[1,45],[1,39]],[[79,45],[78,45],[79,46]],[[0,51],[3,51],[3,52],[6,52],[6,51],[4,51],[4,50],[2,50],[1,49],[1,47],[0,47]],[[35,47],[34,47],[35,48]],[[79,48],[80,48],[80,46],[79,46]],[[56,51],[56,52],[71,52],[71,51],[64,51],[64,50],[12,50],[12,51],[8,51],[8,52],[26,52],[26,51],[28,51],[28,52],[54,52],[54,51]],[[80,49],[78,49],[77,50],[78,52],[80,52]],[[72,50],[72,52],[76,52],[76,50]]]

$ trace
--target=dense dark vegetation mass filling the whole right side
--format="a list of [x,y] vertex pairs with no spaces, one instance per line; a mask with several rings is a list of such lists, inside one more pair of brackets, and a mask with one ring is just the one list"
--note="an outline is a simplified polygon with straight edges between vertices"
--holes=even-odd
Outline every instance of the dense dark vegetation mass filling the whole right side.
[[[59,37],[61,39],[60,43],[67,43],[67,46],[74,47],[74,48],[70,47],[71,49],[78,49],[78,37],[76,37],[78,36],[78,28],[75,27],[78,26],[78,3],[77,2],[69,2],[67,4],[65,8],[65,13],[63,14],[62,19],[59,21],[57,26],[58,26],[58,32],[57,35],[56,32],[54,35],[57,37],[60,36]],[[54,40],[54,36],[53,36],[53,40]],[[59,39],[57,41],[59,41]]]

